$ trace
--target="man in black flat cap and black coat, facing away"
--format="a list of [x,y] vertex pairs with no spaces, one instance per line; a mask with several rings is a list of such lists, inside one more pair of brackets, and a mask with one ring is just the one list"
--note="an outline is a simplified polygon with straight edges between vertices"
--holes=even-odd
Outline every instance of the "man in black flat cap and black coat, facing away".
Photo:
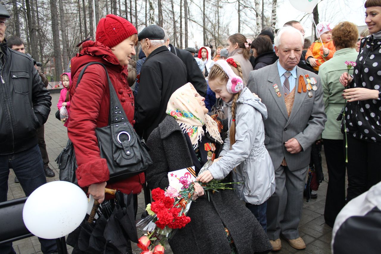
[[145,140],[166,116],[172,93],[187,83],[187,71],[180,58],[165,45],[164,31],[152,25],[138,34],[147,56],[141,71],[139,93],[135,98],[135,129]]

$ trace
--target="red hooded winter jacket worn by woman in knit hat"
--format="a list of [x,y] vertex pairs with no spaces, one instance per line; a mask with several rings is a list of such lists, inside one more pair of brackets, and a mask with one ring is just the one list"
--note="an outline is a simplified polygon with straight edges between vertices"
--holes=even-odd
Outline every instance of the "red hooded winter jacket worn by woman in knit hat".
[[[127,69],[120,65],[109,47],[93,41],[84,42],[82,45],[81,53],[71,60],[71,105],[67,133],[74,144],[78,185],[86,187],[109,180],[109,169],[106,159],[100,156],[95,129],[108,125],[110,107],[106,72],[101,65],[88,66],[76,87],[78,76],[86,64],[95,61],[106,66],[128,120],[132,125],[135,121],[134,96],[127,83]],[[144,173],[141,173],[120,182],[107,184],[107,188],[119,189],[123,193],[132,191],[136,194],[141,192],[144,181]]]

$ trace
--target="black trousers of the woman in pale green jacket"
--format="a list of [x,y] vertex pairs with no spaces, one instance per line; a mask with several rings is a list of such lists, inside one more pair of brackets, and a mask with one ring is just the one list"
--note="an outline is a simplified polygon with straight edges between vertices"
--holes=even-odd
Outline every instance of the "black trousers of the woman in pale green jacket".
[[328,168],[324,220],[333,227],[336,216],[345,206],[345,143],[343,140],[324,138],[323,145]]

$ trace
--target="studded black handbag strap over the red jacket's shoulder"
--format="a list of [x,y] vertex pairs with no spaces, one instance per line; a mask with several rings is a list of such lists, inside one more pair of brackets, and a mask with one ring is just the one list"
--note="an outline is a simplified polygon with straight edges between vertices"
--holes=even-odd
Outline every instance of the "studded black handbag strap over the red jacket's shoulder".
[[[109,125],[126,124],[126,123],[130,124],[130,122],[127,119],[126,113],[122,107],[122,104],[120,103],[120,101],[118,99],[118,95],[115,92],[115,88],[111,83],[109,73],[107,72],[106,66],[104,66],[102,63],[91,62],[91,63],[86,64],[86,66],[83,67],[83,69],[81,70],[81,72],[78,76],[77,87],[78,87],[78,84],[80,83],[80,81],[82,79],[83,73],[85,72],[86,68],[92,64],[99,64],[99,65],[103,66],[104,71],[106,72],[107,82],[109,83],[109,92],[110,92]],[[131,128],[132,128],[132,125],[131,125]]]

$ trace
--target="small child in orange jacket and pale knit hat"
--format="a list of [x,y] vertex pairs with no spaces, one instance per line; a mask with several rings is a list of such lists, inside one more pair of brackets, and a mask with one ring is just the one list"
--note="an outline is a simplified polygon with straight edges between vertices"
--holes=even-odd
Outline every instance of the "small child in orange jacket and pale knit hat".
[[[320,22],[316,26],[316,36],[322,39],[312,43],[311,47],[308,48],[306,53],[306,61],[309,63],[315,71],[319,71],[319,66],[325,61],[328,61],[333,57],[336,49],[333,45],[332,38],[332,25],[327,22]],[[324,45],[324,48],[323,48]]]

